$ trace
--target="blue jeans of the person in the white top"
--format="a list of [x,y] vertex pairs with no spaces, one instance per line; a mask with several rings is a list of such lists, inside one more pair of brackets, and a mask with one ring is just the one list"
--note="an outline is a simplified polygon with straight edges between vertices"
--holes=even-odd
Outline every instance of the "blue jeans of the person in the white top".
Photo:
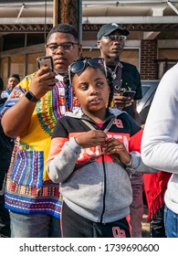
[[164,208],[164,226],[167,238],[178,238],[178,214],[170,208]]

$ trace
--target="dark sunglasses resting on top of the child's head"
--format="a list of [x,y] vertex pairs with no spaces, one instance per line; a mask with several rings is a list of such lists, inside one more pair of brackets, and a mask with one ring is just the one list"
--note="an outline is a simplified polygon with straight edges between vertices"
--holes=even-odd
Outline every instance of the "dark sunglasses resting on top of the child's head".
[[105,70],[105,74],[107,76],[107,68],[106,68],[106,63],[105,60],[102,58],[92,58],[92,59],[84,59],[84,60],[79,60],[74,63],[72,63],[68,67],[68,78],[69,82],[71,84],[71,73],[77,74],[84,69],[86,69],[88,66],[94,68],[94,69],[101,69],[103,68]]

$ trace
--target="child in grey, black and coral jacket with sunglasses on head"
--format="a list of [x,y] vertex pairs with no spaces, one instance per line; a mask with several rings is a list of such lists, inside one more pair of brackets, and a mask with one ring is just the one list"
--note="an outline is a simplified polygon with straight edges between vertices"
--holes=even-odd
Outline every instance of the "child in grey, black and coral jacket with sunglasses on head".
[[58,121],[47,160],[63,196],[63,237],[131,237],[128,172],[145,169],[138,152],[142,132],[128,113],[106,107],[113,87],[104,68],[104,59],[95,58],[68,69],[81,110]]

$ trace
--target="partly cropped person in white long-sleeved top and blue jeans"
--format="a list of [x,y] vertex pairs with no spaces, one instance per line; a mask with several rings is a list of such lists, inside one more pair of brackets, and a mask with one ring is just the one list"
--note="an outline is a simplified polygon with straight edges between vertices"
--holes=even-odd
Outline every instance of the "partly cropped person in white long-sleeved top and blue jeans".
[[178,238],[178,63],[159,84],[145,123],[141,155],[145,165],[173,173],[165,193],[168,238]]

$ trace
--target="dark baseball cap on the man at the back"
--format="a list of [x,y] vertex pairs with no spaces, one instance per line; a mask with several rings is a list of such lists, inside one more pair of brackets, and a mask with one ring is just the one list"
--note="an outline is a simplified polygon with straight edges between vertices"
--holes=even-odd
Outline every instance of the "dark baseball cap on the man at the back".
[[109,36],[113,31],[120,30],[121,35],[128,36],[130,34],[129,30],[125,27],[121,27],[116,23],[105,24],[99,29],[99,33],[97,34],[98,40],[101,37]]

